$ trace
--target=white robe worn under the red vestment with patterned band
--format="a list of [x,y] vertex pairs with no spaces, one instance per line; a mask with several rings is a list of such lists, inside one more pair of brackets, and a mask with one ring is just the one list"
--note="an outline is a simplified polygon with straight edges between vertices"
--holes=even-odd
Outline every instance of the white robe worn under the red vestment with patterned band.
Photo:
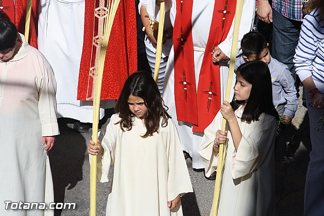
[[[92,122],[92,101],[76,100],[84,24],[85,0],[39,1],[38,49],[54,70],[58,117]],[[101,102],[100,119],[104,116],[103,108],[113,107],[114,101]]]

